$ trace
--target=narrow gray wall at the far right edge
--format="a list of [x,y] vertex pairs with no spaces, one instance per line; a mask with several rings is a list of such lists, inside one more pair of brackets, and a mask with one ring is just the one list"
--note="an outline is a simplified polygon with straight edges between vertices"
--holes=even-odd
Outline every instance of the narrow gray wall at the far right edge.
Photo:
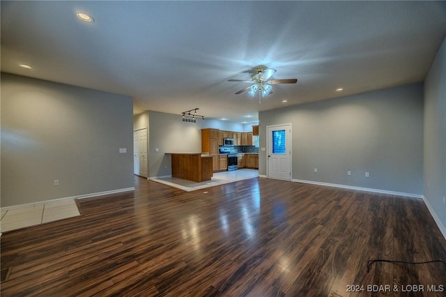
[[446,38],[424,81],[424,197],[446,236]]

